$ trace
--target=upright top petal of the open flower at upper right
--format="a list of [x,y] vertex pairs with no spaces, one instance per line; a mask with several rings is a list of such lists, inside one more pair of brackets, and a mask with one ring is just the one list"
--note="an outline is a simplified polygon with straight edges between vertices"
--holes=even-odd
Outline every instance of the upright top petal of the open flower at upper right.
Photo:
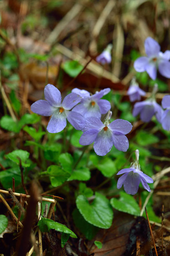
[[160,52],[160,45],[152,37],[147,37],[144,45],[145,52],[149,57],[157,55]]

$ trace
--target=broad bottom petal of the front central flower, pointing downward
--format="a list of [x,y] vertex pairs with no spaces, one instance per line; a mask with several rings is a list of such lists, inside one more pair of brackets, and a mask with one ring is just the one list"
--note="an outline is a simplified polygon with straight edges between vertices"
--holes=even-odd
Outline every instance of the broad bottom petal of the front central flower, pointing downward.
[[103,129],[97,134],[94,141],[94,151],[98,156],[105,156],[113,146],[112,133],[109,129],[105,132]]

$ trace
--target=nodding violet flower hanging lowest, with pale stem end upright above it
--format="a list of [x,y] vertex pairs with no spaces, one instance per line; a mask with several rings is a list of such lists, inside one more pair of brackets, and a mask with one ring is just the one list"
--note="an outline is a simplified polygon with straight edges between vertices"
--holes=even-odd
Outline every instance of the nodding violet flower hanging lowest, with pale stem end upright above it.
[[117,188],[120,189],[124,185],[124,190],[127,194],[134,195],[137,193],[140,182],[144,189],[150,192],[150,187],[147,183],[153,183],[153,179],[144,174],[140,170],[139,150],[135,151],[136,160],[131,163],[130,168],[120,170],[117,175],[123,174],[117,181]]

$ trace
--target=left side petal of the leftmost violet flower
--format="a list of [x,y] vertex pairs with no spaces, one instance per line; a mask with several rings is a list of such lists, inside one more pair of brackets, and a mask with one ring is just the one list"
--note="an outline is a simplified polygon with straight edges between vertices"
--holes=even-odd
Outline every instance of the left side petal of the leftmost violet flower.
[[49,116],[54,112],[54,108],[46,100],[37,100],[31,105],[31,111],[43,115]]

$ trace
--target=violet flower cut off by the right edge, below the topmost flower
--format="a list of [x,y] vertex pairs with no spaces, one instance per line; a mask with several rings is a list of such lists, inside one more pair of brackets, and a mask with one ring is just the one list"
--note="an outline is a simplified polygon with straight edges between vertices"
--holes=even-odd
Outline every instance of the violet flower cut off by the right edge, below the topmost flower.
[[164,130],[170,131],[170,95],[165,95],[162,99],[163,111],[161,124]]

